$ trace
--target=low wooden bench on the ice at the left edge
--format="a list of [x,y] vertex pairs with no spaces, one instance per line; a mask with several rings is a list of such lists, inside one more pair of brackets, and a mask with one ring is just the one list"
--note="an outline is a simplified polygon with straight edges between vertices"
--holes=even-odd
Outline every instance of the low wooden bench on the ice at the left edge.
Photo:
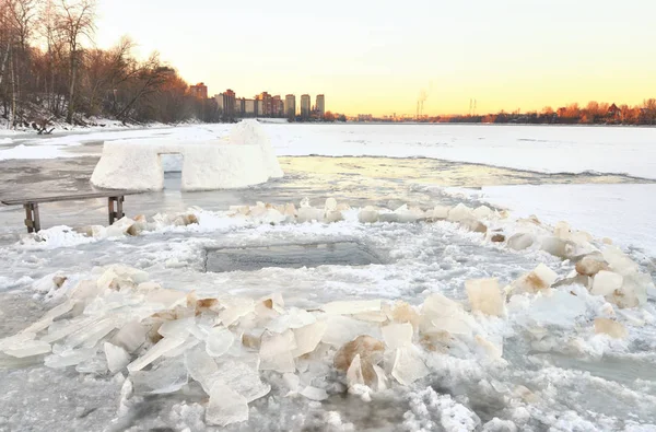
[[25,226],[27,232],[40,231],[40,217],[38,205],[44,202],[60,202],[60,201],[80,201],[86,199],[107,198],[107,207],[109,211],[109,224],[121,219],[126,214],[122,211],[122,203],[126,195],[142,194],[137,190],[104,190],[99,192],[77,194],[77,195],[56,195],[37,198],[20,198],[20,199],[3,199],[5,206],[23,206],[25,208]]

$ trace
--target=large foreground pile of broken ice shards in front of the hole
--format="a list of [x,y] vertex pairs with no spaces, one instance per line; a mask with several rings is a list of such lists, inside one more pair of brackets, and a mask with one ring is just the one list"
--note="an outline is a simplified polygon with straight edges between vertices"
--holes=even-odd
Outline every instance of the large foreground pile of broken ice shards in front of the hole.
[[312,310],[286,306],[276,293],[199,297],[113,265],[67,285],[63,302],[1,339],[0,360],[127,376],[127,402],[129,395],[185,395],[196,383],[208,397],[207,423],[224,427],[248,420],[249,404],[281,386],[282,396],[313,401],[341,392],[371,400],[376,392],[421,383],[448,358],[503,365],[502,323],[526,328],[536,349],[551,340],[540,328],[574,320],[588,338],[626,339],[631,322],[621,323],[613,306],[595,311],[585,302],[636,307],[644,278],[619,249],[595,255],[605,265],[590,259],[575,270],[585,277],[598,270],[589,291],[557,287],[558,275],[540,265],[503,290],[496,279],[467,281],[462,302],[431,293],[419,305],[355,300]]

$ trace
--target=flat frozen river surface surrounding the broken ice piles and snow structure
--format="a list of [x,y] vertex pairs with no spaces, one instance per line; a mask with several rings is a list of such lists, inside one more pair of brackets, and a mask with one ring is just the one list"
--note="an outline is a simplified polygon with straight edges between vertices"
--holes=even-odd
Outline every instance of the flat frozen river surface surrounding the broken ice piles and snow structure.
[[[106,140],[203,138],[225,135],[229,128],[13,137],[0,148],[0,197],[91,190],[89,178]],[[551,224],[567,220],[595,237],[610,237],[641,271],[656,275],[656,230],[651,222],[656,210],[656,129],[266,125],[266,130],[284,178],[244,189],[184,192],[180,174],[172,172],[165,175],[163,191],[126,198],[129,215],[201,208],[199,229],[93,242],[63,235],[39,243],[22,238],[22,209],[0,208],[0,338],[63,300],[48,282],[54,275],[68,278],[65,291],[90,278],[94,267],[117,262],[144,270],[178,291],[251,299],[277,292],[285,307],[307,310],[341,300],[420,305],[434,293],[467,304],[467,280],[493,277],[503,287],[541,262],[559,278],[574,267],[539,249],[500,247],[449,222],[363,224],[347,218],[332,224],[234,224],[225,214],[230,206],[256,201],[298,206],[307,197],[323,207],[331,197],[354,209],[391,210],[406,203],[427,210],[487,202],[517,217],[536,214]],[[106,202],[44,205],[40,211],[44,227],[80,227],[105,223]],[[330,252],[326,245],[336,242],[343,249]],[[295,249],[285,249],[289,245]],[[313,245],[319,245],[316,252],[304,252]],[[272,253],[293,259],[307,255],[308,265],[260,269],[241,264],[225,271],[229,265],[222,261],[215,265],[223,266],[220,272],[208,267],[208,250],[244,247],[258,250],[263,261],[270,261]],[[358,260],[363,250],[372,264]],[[335,261],[316,266],[328,253]],[[616,307],[612,316],[628,328],[628,336],[611,340],[590,330],[593,320],[607,311],[604,299],[581,285],[569,290],[574,295],[563,297],[563,291],[553,290],[558,295],[513,296],[503,318],[475,315],[477,331],[502,347],[499,361],[467,348],[467,342],[454,342],[450,351],[426,354],[429,375],[410,386],[372,394],[368,401],[345,393],[335,371],[319,380],[329,394],[321,402],[285,397],[289,383],[267,372],[262,380],[271,385],[269,396],[249,405],[247,422],[227,429],[656,430],[654,297],[640,307]],[[0,431],[207,428],[207,396],[198,386],[126,401],[120,395],[122,375],[50,369],[38,357],[15,361],[0,355]],[[612,402],[608,395],[613,395]]]

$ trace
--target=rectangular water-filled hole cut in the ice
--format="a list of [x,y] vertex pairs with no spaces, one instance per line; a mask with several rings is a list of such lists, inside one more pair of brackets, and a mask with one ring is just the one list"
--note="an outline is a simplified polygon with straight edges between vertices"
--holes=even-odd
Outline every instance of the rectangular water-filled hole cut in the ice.
[[267,267],[366,266],[380,257],[358,242],[208,249],[206,271],[253,271]]

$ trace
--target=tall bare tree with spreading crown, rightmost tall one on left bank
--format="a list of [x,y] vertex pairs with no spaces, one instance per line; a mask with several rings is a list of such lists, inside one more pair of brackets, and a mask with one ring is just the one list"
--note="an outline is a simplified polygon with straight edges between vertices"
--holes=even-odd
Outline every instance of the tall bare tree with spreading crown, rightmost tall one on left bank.
[[95,28],[95,0],[61,0],[58,30],[69,50],[69,101],[66,120],[73,122],[75,114],[75,84],[81,62],[82,38],[92,39]]

